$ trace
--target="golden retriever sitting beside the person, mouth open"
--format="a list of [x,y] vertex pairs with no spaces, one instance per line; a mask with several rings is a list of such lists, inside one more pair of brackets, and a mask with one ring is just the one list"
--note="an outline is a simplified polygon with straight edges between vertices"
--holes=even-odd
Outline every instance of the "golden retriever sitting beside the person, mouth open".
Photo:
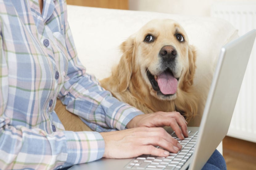
[[[178,111],[188,122],[195,116],[196,52],[178,22],[152,20],[123,42],[121,50],[112,74],[100,81],[103,88],[144,113]],[[82,130],[78,117],[58,115],[66,129]]]

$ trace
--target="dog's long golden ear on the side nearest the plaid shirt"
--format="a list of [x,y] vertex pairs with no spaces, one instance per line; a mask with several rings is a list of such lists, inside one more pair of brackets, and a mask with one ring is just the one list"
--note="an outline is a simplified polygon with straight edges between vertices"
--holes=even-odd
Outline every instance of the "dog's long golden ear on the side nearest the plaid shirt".
[[117,66],[116,78],[118,83],[118,91],[125,91],[130,83],[130,78],[132,75],[132,62],[134,55],[134,38],[135,36],[130,36],[125,42],[120,45],[120,49],[123,52],[123,55]]

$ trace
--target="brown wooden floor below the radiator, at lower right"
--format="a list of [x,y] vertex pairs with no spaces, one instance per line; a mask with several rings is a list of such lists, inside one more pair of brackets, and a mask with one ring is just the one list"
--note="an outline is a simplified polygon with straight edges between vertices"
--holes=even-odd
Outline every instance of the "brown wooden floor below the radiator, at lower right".
[[256,170],[256,143],[226,136],[223,156],[228,170]]

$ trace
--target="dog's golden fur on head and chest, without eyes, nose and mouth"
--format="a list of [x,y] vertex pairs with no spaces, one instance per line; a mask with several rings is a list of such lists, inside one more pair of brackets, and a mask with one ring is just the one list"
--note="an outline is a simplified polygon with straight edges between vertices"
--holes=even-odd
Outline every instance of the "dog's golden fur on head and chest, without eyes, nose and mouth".
[[[184,37],[184,42],[177,40],[177,34]],[[152,35],[154,42],[145,42],[147,35]],[[174,69],[179,70],[179,82],[174,95],[158,94],[147,77],[147,69],[156,74],[163,71],[159,69],[159,51],[166,45],[177,50],[177,68]],[[197,113],[197,97],[193,89],[195,49],[188,44],[188,36],[177,22],[169,19],[151,21],[123,42],[121,50],[123,55],[119,64],[112,70],[110,77],[100,81],[102,87],[120,101],[133,105],[144,113],[176,110],[187,121]]]

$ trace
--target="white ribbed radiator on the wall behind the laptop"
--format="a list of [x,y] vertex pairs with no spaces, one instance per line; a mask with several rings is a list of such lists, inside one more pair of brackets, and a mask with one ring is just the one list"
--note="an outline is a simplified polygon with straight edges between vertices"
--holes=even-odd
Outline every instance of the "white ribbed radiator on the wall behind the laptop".
[[[211,8],[211,16],[229,21],[238,30],[239,36],[256,29],[256,3],[214,4]],[[256,42],[254,42],[237,99],[228,136],[256,142]]]

